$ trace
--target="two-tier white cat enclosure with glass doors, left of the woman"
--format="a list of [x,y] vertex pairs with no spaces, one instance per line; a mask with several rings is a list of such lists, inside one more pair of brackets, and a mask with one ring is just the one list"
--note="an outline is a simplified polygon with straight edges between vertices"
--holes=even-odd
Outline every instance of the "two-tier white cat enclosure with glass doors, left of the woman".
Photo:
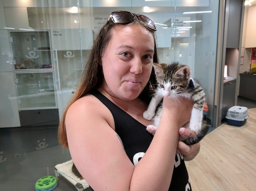
[[19,110],[57,108],[49,30],[10,31]]

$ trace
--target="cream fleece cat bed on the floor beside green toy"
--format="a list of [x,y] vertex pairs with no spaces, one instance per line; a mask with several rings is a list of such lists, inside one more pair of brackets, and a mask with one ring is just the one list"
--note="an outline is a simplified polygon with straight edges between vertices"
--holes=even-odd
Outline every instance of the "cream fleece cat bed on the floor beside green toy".
[[59,175],[61,175],[66,178],[71,184],[73,184],[78,191],[83,191],[84,189],[89,187],[89,184],[85,181],[85,179],[81,180],[72,172],[72,166],[72,159],[70,161],[57,164],[54,168],[56,178],[59,179]]

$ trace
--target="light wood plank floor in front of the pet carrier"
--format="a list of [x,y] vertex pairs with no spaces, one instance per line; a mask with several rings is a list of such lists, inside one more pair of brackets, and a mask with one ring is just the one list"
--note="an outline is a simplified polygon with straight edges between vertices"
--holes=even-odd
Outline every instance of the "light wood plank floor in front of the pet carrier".
[[193,191],[256,191],[256,108],[241,126],[224,123],[186,161]]

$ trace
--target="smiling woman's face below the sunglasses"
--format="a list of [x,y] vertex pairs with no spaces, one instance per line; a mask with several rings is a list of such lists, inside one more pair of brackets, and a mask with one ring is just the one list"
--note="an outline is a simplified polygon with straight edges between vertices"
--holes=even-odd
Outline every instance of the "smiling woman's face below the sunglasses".
[[139,96],[152,70],[154,38],[141,25],[115,25],[102,57],[102,87],[109,95],[130,101]]

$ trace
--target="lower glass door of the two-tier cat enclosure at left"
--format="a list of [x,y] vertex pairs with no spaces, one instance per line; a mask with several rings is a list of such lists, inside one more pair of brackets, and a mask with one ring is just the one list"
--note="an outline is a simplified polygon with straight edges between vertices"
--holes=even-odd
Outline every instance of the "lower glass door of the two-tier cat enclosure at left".
[[16,73],[20,110],[56,108],[53,72]]

